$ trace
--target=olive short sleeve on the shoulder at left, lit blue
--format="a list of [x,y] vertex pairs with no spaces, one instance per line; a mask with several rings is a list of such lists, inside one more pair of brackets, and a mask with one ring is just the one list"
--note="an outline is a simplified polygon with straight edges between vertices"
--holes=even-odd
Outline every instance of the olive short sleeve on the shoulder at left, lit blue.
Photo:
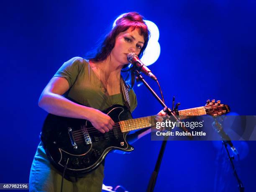
[[83,66],[84,59],[82,57],[73,57],[59,68],[54,77],[64,77],[67,79],[69,87],[72,87]]

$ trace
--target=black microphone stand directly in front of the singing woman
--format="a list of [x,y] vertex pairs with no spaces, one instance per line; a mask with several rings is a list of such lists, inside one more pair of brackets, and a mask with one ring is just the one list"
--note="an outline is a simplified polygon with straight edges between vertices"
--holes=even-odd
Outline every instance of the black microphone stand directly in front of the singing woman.
[[[135,69],[134,73],[136,74],[136,80],[143,82],[143,84],[148,88],[148,90],[154,95],[156,100],[158,100],[160,102],[160,104],[164,107],[164,112],[167,113],[167,115],[169,115],[169,116],[172,115],[178,122],[180,122],[180,120],[176,117],[174,111],[170,110],[164,104],[164,102],[158,97],[158,95],[156,95],[156,92],[154,92],[154,90],[144,80],[144,78],[142,77],[142,75],[138,71],[138,69]],[[187,130],[185,130],[185,131],[187,131]],[[155,184],[156,184],[156,179],[157,179],[158,172],[159,172],[159,169],[160,169],[161,161],[162,161],[162,158],[163,158],[163,155],[164,155],[164,149],[166,147],[166,143],[167,143],[167,141],[166,141],[166,139],[164,139],[164,141],[162,142],[162,145],[161,145],[161,149],[159,151],[159,155],[158,155],[158,158],[157,158],[157,161],[156,161],[154,172],[151,174],[150,181],[148,182],[148,188],[146,190],[147,192],[153,192],[154,191],[154,187],[155,187]]]

